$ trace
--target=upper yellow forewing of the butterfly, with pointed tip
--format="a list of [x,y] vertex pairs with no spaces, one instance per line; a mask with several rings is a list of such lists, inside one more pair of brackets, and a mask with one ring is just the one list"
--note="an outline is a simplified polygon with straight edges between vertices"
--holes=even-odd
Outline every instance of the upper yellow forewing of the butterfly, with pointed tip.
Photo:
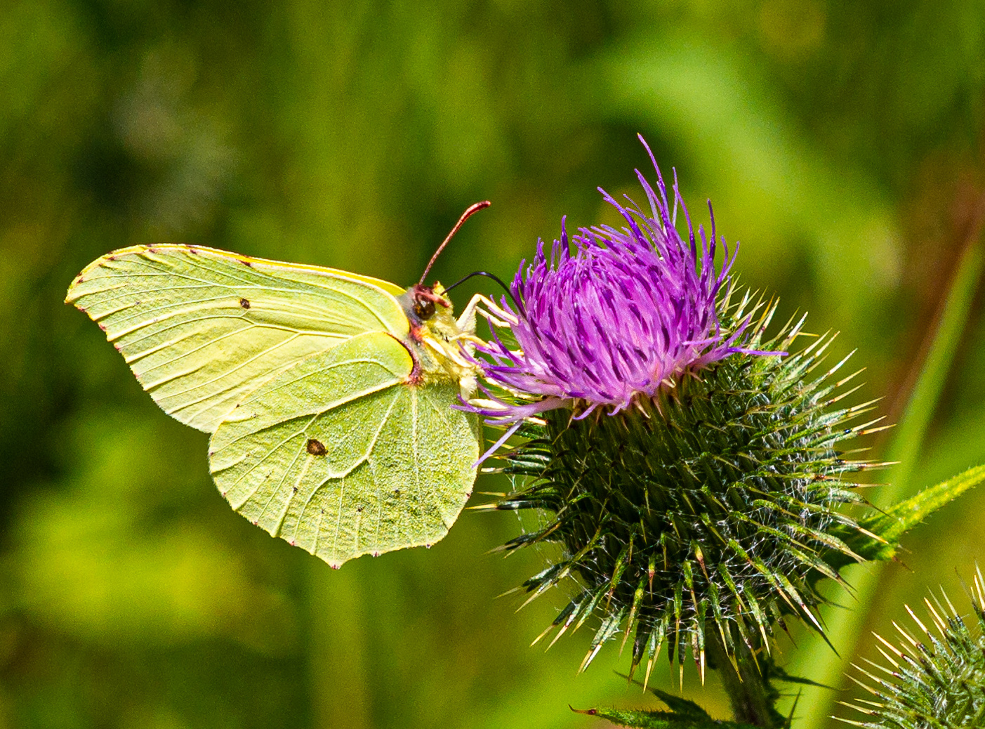
[[287,367],[355,335],[407,337],[378,279],[188,245],[109,253],[69,288],[164,412],[213,432],[236,403]]

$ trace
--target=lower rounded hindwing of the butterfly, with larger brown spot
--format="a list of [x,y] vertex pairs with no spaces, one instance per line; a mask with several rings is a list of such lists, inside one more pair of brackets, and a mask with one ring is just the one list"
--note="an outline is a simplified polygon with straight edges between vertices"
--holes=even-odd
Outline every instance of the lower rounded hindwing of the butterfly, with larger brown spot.
[[333,566],[437,542],[472,493],[479,423],[452,409],[457,382],[412,384],[413,367],[369,332],[281,372],[213,434],[219,490]]

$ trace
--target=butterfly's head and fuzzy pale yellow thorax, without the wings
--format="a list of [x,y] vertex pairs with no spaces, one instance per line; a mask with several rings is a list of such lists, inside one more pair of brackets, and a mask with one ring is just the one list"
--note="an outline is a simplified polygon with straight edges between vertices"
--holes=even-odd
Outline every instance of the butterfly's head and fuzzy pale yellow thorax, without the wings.
[[460,382],[468,397],[476,386],[477,367],[467,355],[474,348],[475,328],[462,328],[440,284],[416,284],[398,300],[411,324],[404,342],[414,358],[416,383]]

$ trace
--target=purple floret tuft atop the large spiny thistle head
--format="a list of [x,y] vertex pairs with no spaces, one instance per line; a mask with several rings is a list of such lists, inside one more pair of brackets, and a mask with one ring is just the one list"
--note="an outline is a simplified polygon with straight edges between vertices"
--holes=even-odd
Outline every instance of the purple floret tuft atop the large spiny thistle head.
[[[493,341],[477,348],[486,358],[479,361],[486,379],[513,396],[503,399],[484,388],[490,399],[469,406],[493,424],[518,425],[561,407],[579,411],[579,419],[603,406],[613,415],[729,355],[783,354],[741,346],[749,318],[723,335],[716,299],[728,284],[738,243],[729,255],[722,238],[725,256],[716,272],[714,214],[710,237],[698,227],[698,245],[676,173],[672,211],[660,168],[639,139],[660,192],[636,170],[649,212],[628,197],[621,205],[599,188],[624,228],[580,228],[569,239],[562,220],[550,260],[539,241],[533,265],[524,272],[526,261],[520,264],[512,302],[502,298],[490,308],[493,324],[508,326],[518,347],[507,348],[493,331]],[[674,227],[679,203],[688,240]]]

